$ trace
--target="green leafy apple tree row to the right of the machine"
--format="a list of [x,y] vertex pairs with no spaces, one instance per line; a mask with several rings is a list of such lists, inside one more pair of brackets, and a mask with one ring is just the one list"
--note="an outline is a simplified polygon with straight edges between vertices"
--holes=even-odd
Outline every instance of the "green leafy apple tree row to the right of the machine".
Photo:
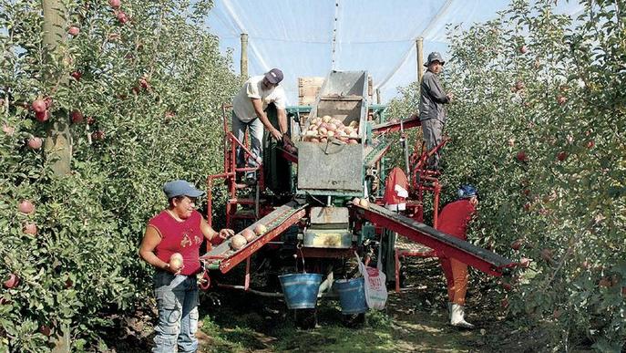
[[[549,320],[555,348],[570,333],[611,350],[626,336],[626,31],[614,2],[580,5],[577,22],[520,0],[497,20],[449,27],[443,201],[477,184],[469,238],[532,259],[512,311]],[[411,102],[405,91],[392,107]]]

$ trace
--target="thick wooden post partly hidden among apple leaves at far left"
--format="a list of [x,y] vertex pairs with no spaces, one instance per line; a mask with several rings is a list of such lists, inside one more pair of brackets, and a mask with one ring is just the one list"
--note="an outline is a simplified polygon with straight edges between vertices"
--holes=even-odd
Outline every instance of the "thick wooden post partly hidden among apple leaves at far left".
[[[65,28],[67,23],[64,19],[66,9],[60,0],[43,0],[42,5],[44,10],[43,40],[48,59],[65,57],[65,54],[58,52],[59,49],[56,45],[66,38]],[[67,62],[67,60],[64,60],[64,62]],[[48,80],[56,79],[50,73],[44,78]],[[67,83],[67,81],[67,78],[61,80],[62,83]],[[69,116],[66,116],[64,119],[54,119],[52,127],[47,130],[44,150],[47,158],[56,160],[52,164],[52,170],[56,175],[69,174],[72,162],[72,135],[69,132]]]

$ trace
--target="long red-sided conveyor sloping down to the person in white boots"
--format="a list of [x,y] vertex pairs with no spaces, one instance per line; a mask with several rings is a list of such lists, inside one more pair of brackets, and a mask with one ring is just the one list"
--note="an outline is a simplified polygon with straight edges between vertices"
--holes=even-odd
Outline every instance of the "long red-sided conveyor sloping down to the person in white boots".
[[394,213],[376,204],[364,208],[354,206],[364,219],[384,226],[397,234],[435,249],[437,254],[452,257],[467,265],[476,267],[488,275],[502,275],[503,271],[515,264],[498,254],[464,240],[437,231],[424,223],[416,222],[402,214]]

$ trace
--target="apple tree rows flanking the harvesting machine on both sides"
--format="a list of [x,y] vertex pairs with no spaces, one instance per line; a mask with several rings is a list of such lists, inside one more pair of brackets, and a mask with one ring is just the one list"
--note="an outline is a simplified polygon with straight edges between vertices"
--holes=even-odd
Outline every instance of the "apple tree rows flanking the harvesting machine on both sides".
[[[0,351],[45,351],[64,332],[74,350],[93,348],[108,317],[152,297],[137,255],[145,223],[164,207],[163,182],[220,171],[220,107],[241,84],[204,26],[211,2],[192,3],[60,1],[51,40],[48,2],[0,2]],[[448,28],[444,201],[476,184],[469,239],[524,265],[472,281],[561,350],[619,350],[626,336],[618,4],[584,2],[569,18],[516,0]],[[416,85],[401,92],[391,116],[416,109]]]

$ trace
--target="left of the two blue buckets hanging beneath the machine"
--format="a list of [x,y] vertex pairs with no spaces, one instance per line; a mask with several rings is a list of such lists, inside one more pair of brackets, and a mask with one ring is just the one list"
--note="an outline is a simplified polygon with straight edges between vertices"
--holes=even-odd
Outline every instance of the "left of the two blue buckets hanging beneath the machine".
[[282,294],[290,309],[313,309],[317,304],[317,293],[322,283],[319,274],[279,275]]

